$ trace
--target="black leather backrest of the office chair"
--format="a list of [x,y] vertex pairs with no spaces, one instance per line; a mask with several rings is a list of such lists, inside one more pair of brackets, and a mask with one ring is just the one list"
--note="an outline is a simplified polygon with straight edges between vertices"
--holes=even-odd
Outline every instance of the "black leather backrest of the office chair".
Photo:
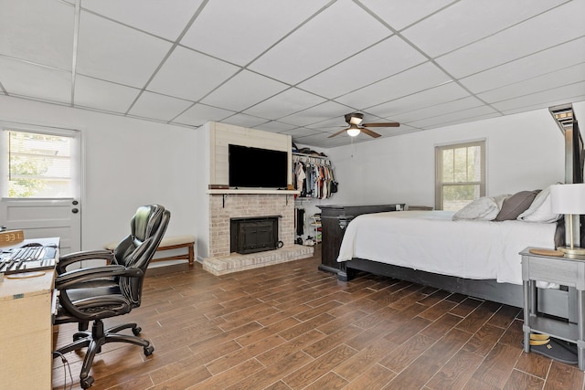
[[[130,222],[131,234],[122,239],[114,249],[117,264],[142,269],[146,272],[163,236],[165,236],[171,213],[159,205],[141,206]],[[120,289],[133,303],[140,306],[144,278],[119,279]]]

